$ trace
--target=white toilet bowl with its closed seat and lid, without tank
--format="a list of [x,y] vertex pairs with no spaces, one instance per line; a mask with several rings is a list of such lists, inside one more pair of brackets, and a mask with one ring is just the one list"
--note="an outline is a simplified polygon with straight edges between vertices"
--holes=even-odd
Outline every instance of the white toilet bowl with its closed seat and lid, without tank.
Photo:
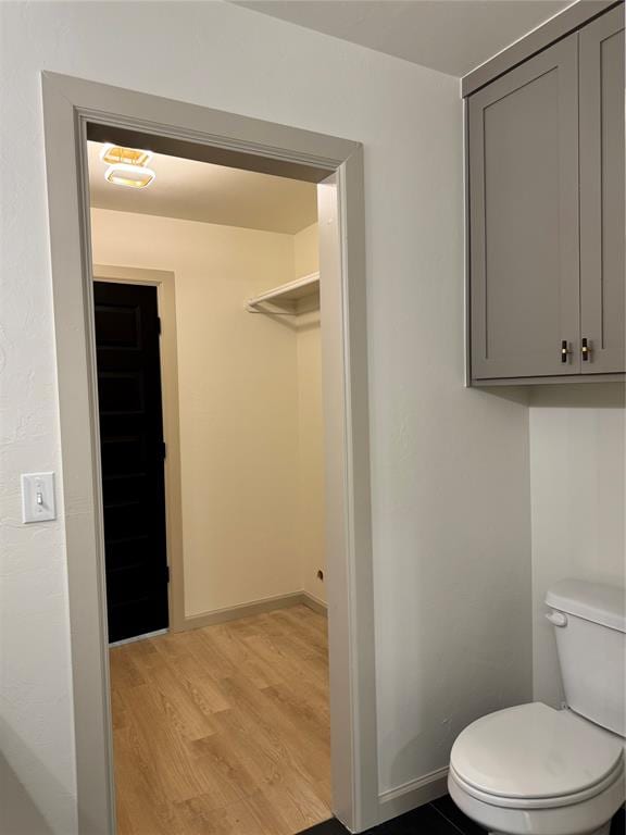
[[608,835],[624,802],[624,747],[568,710],[523,705],[459,736],[448,788],[497,835]]

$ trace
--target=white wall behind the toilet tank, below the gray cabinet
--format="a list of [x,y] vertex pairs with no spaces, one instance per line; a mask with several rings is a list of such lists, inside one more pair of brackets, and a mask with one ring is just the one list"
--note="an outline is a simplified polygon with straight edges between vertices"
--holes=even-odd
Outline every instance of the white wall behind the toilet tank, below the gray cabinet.
[[530,407],[535,698],[563,699],[550,586],[564,577],[624,586],[624,386],[537,387]]

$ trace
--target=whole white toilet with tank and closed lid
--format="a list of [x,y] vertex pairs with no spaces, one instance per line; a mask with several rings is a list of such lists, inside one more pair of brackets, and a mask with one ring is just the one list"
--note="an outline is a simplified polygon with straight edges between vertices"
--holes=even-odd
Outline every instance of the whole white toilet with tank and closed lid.
[[624,589],[565,579],[546,603],[567,707],[474,722],[452,748],[448,788],[492,835],[609,835],[625,799]]

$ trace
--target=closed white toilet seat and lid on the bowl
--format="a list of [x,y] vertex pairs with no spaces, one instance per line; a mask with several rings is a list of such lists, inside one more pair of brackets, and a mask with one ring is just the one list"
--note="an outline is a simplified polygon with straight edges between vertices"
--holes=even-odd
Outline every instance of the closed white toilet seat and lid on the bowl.
[[554,809],[592,798],[624,772],[623,745],[567,710],[534,702],[477,720],[450,757],[471,797],[510,809]]

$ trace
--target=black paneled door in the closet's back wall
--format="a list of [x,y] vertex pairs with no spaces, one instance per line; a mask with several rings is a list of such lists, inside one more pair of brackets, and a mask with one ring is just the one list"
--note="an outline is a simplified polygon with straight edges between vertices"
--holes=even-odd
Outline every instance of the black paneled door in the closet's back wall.
[[167,626],[156,288],[95,283],[109,640]]

